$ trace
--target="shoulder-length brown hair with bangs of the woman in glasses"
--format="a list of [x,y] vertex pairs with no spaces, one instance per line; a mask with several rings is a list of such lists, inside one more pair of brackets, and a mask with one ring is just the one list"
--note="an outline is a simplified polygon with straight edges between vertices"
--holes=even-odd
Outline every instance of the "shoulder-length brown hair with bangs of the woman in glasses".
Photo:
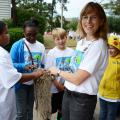
[[101,7],[101,5],[98,3],[95,3],[95,2],[89,2],[82,9],[81,14],[80,14],[80,20],[78,22],[77,32],[80,34],[81,38],[86,37],[86,33],[82,27],[82,17],[93,11],[95,11],[97,13],[97,15],[99,16],[99,19],[101,19],[101,22],[102,22],[101,26],[99,27],[98,31],[96,32],[95,37],[103,38],[104,40],[107,40],[107,32],[108,32],[107,17],[105,15],[105,12],[104,12],[103,8]]

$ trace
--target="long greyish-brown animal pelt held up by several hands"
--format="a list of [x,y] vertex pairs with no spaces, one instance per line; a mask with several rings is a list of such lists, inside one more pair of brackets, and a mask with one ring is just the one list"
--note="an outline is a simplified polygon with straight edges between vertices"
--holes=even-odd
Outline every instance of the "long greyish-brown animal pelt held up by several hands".
[[51,93],[50,88],[54,76],[46,71],[44,75],[34,81],[35,103],[37,111],[37,120],[51,119]]

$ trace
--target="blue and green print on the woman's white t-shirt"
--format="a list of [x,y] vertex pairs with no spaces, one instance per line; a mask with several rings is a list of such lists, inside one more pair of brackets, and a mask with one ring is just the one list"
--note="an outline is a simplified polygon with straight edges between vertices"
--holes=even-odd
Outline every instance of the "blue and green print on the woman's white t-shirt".
[[71,62],[70,62],[71,72],[75,72],[77,70],[83,58],[84,58],[84,52],[75,50],[75,55],[71,58]]

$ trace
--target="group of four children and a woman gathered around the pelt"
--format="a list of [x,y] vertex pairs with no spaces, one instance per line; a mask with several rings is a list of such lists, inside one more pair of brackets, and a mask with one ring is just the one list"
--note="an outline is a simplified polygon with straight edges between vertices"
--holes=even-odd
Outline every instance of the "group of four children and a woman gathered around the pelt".
[[116,120],[120,37],[110,35],[107,47],[107,18],[98,3],[89,2],[81,11],[77,30],[81,39],[75,50],[66,47],[67,33],[62,28],[53,29],[56,46],[47,56],[44,45],[36,40],[38,22],[26,21],[23,31],[25,37],[11,47],[11,60],[4,49],[9,43],[7,25],[0,21],[0,120],[33,120],[33,80],[44,74],[34,69],[43,66],[56,75],[51,86],[51,114],[58,112],[57,120],[92,120],[97,94],[99,119]]

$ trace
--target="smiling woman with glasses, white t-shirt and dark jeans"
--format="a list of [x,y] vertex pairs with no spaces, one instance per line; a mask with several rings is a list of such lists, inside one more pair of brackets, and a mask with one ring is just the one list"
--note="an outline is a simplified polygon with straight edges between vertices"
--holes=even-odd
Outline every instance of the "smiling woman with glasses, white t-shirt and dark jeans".
[[92,120],[97,102],[99,81],[107,65],[107,18],[103,8],[89,2],[81,11],[73,73],[50,68],[52,74],[64,78],[66,90],[62,103],[63,120]]

